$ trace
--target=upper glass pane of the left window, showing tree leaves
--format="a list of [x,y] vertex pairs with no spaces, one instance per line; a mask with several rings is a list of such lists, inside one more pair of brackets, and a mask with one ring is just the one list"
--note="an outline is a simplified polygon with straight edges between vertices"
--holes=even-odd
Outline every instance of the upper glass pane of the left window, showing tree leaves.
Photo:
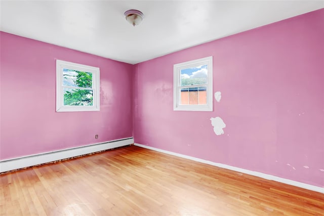
[[63,85],[92,88],[92,73],[63,68]]

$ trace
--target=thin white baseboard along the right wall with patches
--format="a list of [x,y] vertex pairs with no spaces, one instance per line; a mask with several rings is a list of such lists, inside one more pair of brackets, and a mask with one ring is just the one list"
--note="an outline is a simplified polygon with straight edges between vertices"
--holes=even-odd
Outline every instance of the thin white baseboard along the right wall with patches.
[[319,192],[319,193],[324,193],[324,188],[322,188],[322,187],[318,187],[318,186],[314,186],[314,185],[308,185],[308,184],[305,184],[305,183],[296,182],[296,181],[293,181],[293,180],[284,179],[284,178],[264,174],[262,172],[252,171],[252,170],[248,170],[248,169],[242,169],[242,168],[238,168],[238,167],[235,167],[235,166],[230,166],[230,165],[226,165],[226,164],[222,164],[222,163],[215,163],[215,162],[212,162],[212,161],[209,161],[209,160],[204,160],[204,159],[200,159],[200,158],[196,158],[196,157],[191,157],[191,156],[187,156],[187,155],[183,155],[183,154],[178,154],[178,153],[175,153],[175,152],[170,152],[170,151],[166,151],[166,150],[162,150],[162,149],[158,149],[158,148],[154,148],[154,147],[150,147],[150,146],[145,146],[145,145],[141,145],[141,144],[138,144],[138,143],[134,143],[134,145],[142,147],[142,148],[147,148],[147,149],[151,149],[151,150],[154,150],[154,151],[174,155],[174,156],[177,156],[177,157],[182,157],[182,158],[186,158],[186,159],[189,159],[189,160],[194,160],[194,161],[201,162],[201,163],[207,163],[207,164],[210,164],[210,165],[213,165],[213,166],[218,166],[218,167],[221,167],[221,168],[242,172],[244,174],[249,174],[251,176],[257,176],[257,177],[260,177],[260,178],[263,178],[263,179],[272,180],[272,181],[276,181],[276,182],[281,182],[281,183],[285,183],[285,184],[288,184],[288,185],[293,185],[293,186],[296,186],[296,187],[316,191],[316,192]]

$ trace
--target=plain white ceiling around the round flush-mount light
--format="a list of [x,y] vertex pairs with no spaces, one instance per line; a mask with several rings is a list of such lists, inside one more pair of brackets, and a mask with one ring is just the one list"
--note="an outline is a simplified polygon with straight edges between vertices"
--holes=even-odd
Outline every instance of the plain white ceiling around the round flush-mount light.
[[[0,30],[135,64],[324,7],[324,1],[1,1]],[[133,27],[124,12],[143,12]]]

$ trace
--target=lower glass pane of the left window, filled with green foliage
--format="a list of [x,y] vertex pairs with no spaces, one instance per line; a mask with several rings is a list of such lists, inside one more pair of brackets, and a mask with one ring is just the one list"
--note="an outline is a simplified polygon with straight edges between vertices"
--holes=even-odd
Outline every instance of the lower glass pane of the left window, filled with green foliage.
[[63,88],[65,106],[92,106],[93,91]]

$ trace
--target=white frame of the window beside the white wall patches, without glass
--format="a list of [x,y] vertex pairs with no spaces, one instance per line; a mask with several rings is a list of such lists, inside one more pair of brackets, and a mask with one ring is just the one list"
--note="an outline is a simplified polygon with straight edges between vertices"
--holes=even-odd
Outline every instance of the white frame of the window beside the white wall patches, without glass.
[[[207,104],[206,105],[181,105],[181,70],[186,68],[206,65],[207,72]],[[204,84],[205,85],[205,84]],[[174,111],[213,111],[213,56],[182,62],[173,66],[173,110]],[[200,85],[189,85],[190,87],[200,87]]]

